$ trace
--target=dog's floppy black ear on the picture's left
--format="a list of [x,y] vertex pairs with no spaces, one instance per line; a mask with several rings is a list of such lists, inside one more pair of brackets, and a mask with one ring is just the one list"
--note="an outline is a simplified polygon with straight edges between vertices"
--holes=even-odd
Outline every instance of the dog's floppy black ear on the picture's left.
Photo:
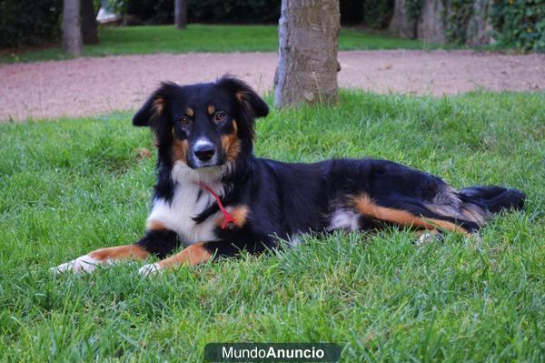
[[158,120],[163,116],[163,113],[166,112],[170,95],[177,86],[170,82],[162,83],[136,112],[133,117],[133,125],[154,128]]

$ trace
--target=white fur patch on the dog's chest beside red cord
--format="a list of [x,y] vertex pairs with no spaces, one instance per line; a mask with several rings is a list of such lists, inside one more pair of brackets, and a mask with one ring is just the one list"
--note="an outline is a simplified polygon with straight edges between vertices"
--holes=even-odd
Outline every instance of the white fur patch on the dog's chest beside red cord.
[[[167,202],[163,198],[156,198],[154,206],[147,218],[147,224],[161,222],[164,227],[173,230],[181,237],[181,242],[191,245],[197,242],[215,241],[213,230],[219,212],[208,217],[203,223],[196,224],[193,217],[198,216],[204,209],[215,203],[213,196],[198,185],[199,180],[193,180],[193,170],[177,163],[173,167],[173,179],[177,182],[173,199]],[[201,175],[202,176],[202,175]],[[209,180],[207,180],[209,179]],[[212,177],[204,175],[201,180],[213,189],[220,197],[224,190],[222,183],[213,181]],[[200,196],[199,196],[200,195]]]

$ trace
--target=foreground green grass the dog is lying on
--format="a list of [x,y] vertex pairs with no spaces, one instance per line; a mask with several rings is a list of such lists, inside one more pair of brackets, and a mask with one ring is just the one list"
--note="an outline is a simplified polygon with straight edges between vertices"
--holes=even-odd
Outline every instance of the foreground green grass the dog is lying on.
[[336,342],[342,361],[543,361],[545,96],[344,92],[274,111],[256,154],[376,156],[528,194],[482,242],[336,233],[269,257],[163,276],[141,263],[55,277],[49,267],[134,241],[154,183],[152,137],[130,114],[0,125],[0,361],[202,361],[217,341]]

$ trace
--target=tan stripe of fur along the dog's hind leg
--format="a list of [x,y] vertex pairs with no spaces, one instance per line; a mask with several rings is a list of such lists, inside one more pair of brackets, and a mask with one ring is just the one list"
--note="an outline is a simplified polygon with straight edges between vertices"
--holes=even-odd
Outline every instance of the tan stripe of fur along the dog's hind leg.
[[471,235],[465,228],[448,221],[435,218],[417,217],[406,210],[377,206],[366,194],[359,197],[354,197],[353,201],[354,207],[356,210],[358,210],[358,212],[362,213],[363,216],[395,223],[400,226],[421,227],[430,230],[440,228],[452,232],[459,232],[465,235]]

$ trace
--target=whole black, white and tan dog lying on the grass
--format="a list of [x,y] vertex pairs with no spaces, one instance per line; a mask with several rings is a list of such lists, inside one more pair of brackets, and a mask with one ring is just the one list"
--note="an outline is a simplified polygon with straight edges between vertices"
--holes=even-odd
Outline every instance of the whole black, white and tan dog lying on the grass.
[[[456,190],[440,177],[386,160],[336,159],[287,164],[253,156],[254,119],[263,99],[242,81],[164,83],[133,119],[158,147],[157,183],[146,232],[138,242],[95,250],[55,271],[150,255],[144,275],[182,264],[259,253],[309,232],[411,227],[475,234],[485,220],[521,208],[524,194],[504,187]],[[425,233],[424,233],[425,232]],[[183,250],[172,257],[173,251]]]

